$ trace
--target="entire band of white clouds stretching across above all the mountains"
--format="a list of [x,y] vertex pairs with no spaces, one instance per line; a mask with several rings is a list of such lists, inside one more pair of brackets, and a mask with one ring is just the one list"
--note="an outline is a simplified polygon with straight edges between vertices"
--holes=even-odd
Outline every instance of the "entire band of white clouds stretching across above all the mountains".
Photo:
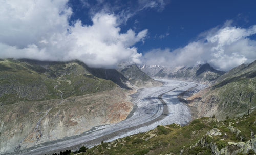
[[[200,39],[185,47],[153,49],[142,55],[135,44],[144,41],[148,30],[120,31],[120,24],[134,15],[131,10],[117,15],[100,11],[92,16],[92,25],[78,20],[70,26],[73,12],[68,0],[0,2],[0,58],[78,59],[91,67],[105,68],[116,67],[120,62],[167,66],[207,62],[224,71],[256,59],[256,41],[250,39],[256,33],[256,25],[240,28],[227,21],[222,27],[200,34]],[[162,11],[166,5],[162,0],[138,2],[135,12],[148,8]]]

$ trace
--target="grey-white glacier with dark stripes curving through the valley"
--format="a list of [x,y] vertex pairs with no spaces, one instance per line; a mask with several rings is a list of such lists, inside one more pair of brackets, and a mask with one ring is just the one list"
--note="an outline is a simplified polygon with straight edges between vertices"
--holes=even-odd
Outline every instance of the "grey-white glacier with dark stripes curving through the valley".
[[177,96],[189,89],[200,90],[205,85],[167,79],[156,80],[163,82],[163,86],[143,88],[132,95],[134,108],[125,120],[94,127],[79,136],[42,143],[25,149],[20,154],[51,154],[66,149],[74,150],[83,145],[93,147],[101,141],[112,141],[151,130],[159,124],[188,123],[191,119],[189,109]]

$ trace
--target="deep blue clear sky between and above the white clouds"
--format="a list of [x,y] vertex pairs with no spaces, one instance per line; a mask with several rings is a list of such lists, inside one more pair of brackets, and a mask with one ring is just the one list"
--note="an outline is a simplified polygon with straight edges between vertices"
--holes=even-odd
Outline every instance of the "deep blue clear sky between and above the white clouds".
[[[87,2],[88,7],[83,3]],[[122,10],[134,11],[138,9],[137,1],[102,1],[103,5],[110,4],[113,8],[108,13],[119,14]],[[125,32],[132,28],[136,32],[148,29],[145,42],[138,42],[138,50],[145,53],[155,48],[177,49],[184,47],[190,41],[197,39],[198,35],[211,28],[222,26],[226,20],[233,20],[233,25],[249,27],[256,24],[256,1],[164,1],[165,5],[147,8],[138,11],[121,24],[121,31]],[[80,19],[83,24],[91,25],[91,8],[100,2],[71,0],[69,5],[74,14],[70,22]],[[90,5],[90,6],[89,6]],[[137,7],[136,7],[137,6]],[[133,8],[134,7],[134,8]],[[101,11],[102,5],[95,8]],[[254,36],[251,36],[255,38]]]

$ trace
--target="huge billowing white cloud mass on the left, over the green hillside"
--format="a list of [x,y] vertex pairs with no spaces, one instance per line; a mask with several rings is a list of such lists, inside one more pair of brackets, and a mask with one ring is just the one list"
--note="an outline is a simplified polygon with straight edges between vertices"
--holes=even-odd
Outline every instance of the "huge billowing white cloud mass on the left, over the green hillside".
[[[3,1],[3,0],[1,0]],[[147,29],[120,33],[114,14],[97,13],[92,25],[69,25],[72,9],[63,0],[3,1],[0,6],[0,57],[66,61],[78,59],[92,67],[140,63],[135,43]]]

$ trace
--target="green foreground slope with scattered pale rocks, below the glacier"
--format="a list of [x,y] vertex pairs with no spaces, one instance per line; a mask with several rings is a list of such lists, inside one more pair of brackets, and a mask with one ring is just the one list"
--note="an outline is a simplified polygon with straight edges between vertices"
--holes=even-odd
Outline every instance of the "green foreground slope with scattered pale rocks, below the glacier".
[[81,154],[255,154],[256,112],[228,118],[202,117],[186,126],[170,124],[112,142],[102,142]]

